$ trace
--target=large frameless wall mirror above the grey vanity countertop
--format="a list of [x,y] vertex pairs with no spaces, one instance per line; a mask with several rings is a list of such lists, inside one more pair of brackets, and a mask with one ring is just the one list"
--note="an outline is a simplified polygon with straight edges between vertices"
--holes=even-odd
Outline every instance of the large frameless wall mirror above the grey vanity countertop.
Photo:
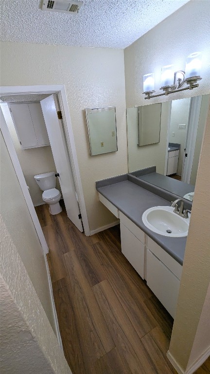
[[209,94],[163,102],[159,143],[145,147],[137,145],[139,107],[128,108],[129,173],[192,201],[209,104]]

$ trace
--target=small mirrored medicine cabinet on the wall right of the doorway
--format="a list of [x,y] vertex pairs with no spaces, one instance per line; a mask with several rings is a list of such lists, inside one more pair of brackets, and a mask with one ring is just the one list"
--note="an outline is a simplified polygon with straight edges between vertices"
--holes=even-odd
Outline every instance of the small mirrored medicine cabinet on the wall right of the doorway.
[[90,155],[117,151],[115,107],[86,109]]

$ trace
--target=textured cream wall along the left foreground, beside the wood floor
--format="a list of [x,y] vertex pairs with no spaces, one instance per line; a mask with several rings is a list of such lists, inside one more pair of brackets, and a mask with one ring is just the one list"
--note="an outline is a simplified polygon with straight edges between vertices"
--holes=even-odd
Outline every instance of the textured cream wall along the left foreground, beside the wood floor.
[[1,132],[0,180],[2,373],[70,374],[55,336],[46,256]]

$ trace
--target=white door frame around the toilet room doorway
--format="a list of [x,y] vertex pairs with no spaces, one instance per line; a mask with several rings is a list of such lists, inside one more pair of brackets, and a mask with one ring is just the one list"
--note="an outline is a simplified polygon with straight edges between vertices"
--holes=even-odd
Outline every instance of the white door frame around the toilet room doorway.
[[[55,93],[55,94],[58,95],[59,103],[60,103],[60,106],[61,106],[61,112],[62,112],[62,115],[63,115],[63,123],[64,123],[65,135],[66,135],[66,139],[67,139],[67,147],[68,147],[69,155],[70,155],[70,163],[71,163],[71,168],[72,168],[72,173],[73,173],[73,178],[74,178],[74,184],[75,184],[75,189],[76,189],[76,193],[77,193],[77,196],[78,196],[78,203],[79,203],[79,207],[80,207],[80,212],[81,212],[81,215],[82,215],[82,222],[83,222],[85,234],[86,234],[86,236],[89,236],[90,235],[90,230],[89,230],[89,224],[88,224],[88,215],[87,215],[87,210],[86,210],[86,206],[85,206],[85,199],[84,199],[84,194],[83,194],[82,181],[81,181],[81,177],[80,177],[79,164],[78,164],[78,159],[77,159],[77,154],[76,154],[76,147],[75,147],[75,143],[74,143],[73,130],[72,130],[72,125],[71,125],[71,120],[70,120],[70,112],[69,112],[69,107],[68,107],[68,101],[67,101],[65,86],[64,85],[36,85],[36,86],[1,86],[0,87],[0,95],[35,94],[35,93],[38,93],[38,94],[47,94],[47,93],[53,94],[53,93]],[[7,134],[6,134],[6,132],[7,132]],[[6,142],[6,145],[7,145],[7,143],[9,142],[9,139],[11,140],[8,128],[4,129],[4,135],[5,135],[5,142]],[[13,143],[12,143],[12,145],[13,145]],[[14,146],[11,147],[11,145],[10,145],[9,148],[10,148],[9,153],[10,153],[10,157],[12,159],[12,162],[14,161],[15,164],[17,164],[18,157],[17,157],[16,151],[15,151],[15,148],[14,148]],[[18,161],[18,164],[19,164],[19,161]],[[20,165],[19,165],[19,168],[21,169]],[[33,222],[35,224],[35,229],[36,229],[36,231],[38,229],[37,234],[39,232],[40,238],[42,236],[44,238],[42,230],[41,230],[42,235],[40,233],[41,226],[39,224],[39,221],[38,221],[38,218],[37,218],[37,215],[36,215],[36,212],[35,212],[35,208],[32,204],[31,196],[28,192],[28,188],[26,186],[25,178],[23,177],[23,174],[21,175],[22,169],[20,171],[19,168],[17,168],[16,174],[18,176],[18,180],[19,180],[19,177],[20,177],[20,180],[19,180],[20,187],[23,191],[23,194],[24,194],[24,197],[25,197],[25,200],[26,200],[26,203],[27,203],[28,207],[30,206],[29,210],[30,210],[30,214],[32,216]],[[23,183],[21,177],[23,177],[24,183]],[[27,191],[26,191],[26,188],[27,188]],[[33,208],[32,208],[32,206],[33,206]],[[39,228],[39,226],[40,226],[40,228]],[[39,238],[39,240],[40,240],[40,238]],[[46,247],[47,244],[46,244],[45,239],[44,239],[44,241],[43,240],[40,241],[40,243],[43,246],[44,252],[48,253],[48,247]],[[46,250],[47,250],[47,252],[46,252]]]

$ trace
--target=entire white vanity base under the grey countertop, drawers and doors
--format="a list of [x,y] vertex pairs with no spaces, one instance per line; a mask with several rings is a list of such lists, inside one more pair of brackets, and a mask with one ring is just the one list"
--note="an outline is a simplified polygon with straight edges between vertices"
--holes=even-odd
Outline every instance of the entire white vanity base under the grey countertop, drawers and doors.
[[122,253],[175,318],[182,265],[99,193],[99,200],[120,218]]

